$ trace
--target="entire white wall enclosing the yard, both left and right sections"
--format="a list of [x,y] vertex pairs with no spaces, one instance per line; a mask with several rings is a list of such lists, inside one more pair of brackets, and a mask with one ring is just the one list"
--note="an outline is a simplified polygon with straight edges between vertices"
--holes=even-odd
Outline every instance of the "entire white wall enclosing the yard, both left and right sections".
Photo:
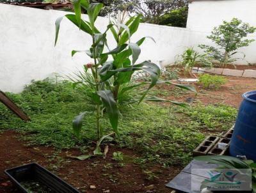
[[[211,44],[206,36],[222,20],[237,17],[256,26],[255,10],[256,0],[194,1],[189,4],[187,29],[141,24],[132,41],[152,36],[157,43],[146,40],[139,61],[151,59],[170,64],[188,46],[197,49],[200,43]],[[71,58],[72,50],[86,50],[92,40],[67,19],[61,22],[59,41],[54,47],[54,22],[65,14],[67,12],[0,4],[1,90],[17,93],[33,79],[42,80],[54,72],[68,75],[90,61],[84,54]],[[87,16],[83,17],[86,19]],[[96,25],[104,31],[108,19],[99,17]],[[111,35],[108,38],[109,45],[114,48],[115,41]],[[251,38],[256,39],[256,36]],[[256,63],[255,50],[256,42],[241,49],[246,54],[246,61]],[[246,64],[246,61],[237,63]]]

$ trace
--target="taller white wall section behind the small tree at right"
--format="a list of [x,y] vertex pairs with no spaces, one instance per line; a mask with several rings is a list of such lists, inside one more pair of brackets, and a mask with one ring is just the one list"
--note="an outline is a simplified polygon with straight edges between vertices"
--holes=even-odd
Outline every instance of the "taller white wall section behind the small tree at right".
[[[187,28],[191,31],[189,46],[197,46],[200,43],[214,45],[206,38],[211,34],[213,27],[219,26],[223,20],[230,21],[236,17],[256,26],[256,0],[202,0],[189,4]],[[248,38],[256,39],[256,33]],[[198,49],[200,50],[200,49]],[[244,60],[236,63],[246,65],[256,63],[256,41],[248,47],[239,49],[246,55]],[[243,58],[243,54],[237,55]]]

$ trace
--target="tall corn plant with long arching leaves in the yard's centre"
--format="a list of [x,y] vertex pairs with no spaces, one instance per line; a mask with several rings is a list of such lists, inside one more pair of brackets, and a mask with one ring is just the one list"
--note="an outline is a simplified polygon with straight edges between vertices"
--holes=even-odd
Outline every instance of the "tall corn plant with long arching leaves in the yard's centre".
[[[97,119],[97,148],[95,154],[100,152],[99,144],[109,135],[118,134],[118,118],[120,112],[118,110],[118,100],[120,96],[124,96],[125,92],[138,86],[148,84],[148,88],[143,90],[140,98],[136,100],[138,104],[145,98],[149,89],[154,87],[160,76],[159,67],[150,61],[137,63],[140,56],[140,45],[145,41],[146,37],[141,38],[138,42],[131,42],[131,36],[137,31],[140,24],[141,15],[130,17],[126,22],[124,17],[117,22],[109,22],[106,30],[101,33],[95,26],[95,20],[102,8],[101,3],[90,3],[88,0],[74,1],[75,14],[67,14],[56,20],[56,38],[60,31],[60,23],[63,18],[67,18],[81,31],[88,34],[92,38],[90,49],[84,51],[72,50],[72,56],[77,52],[84,52],[93,59],[93,63],[84,65],[84,72],[77,73],[78,79],[74,79],[74,84],[83,84],[80,89],[89,96],[92,104],[95,105]],[[89,20],[81,19],[81,8],[88,13]],[[115,40],[116,47],[109,49],[106,35],[111,31]],[[150,77],[149,82],[138,82],[133,84],[131,81],[132,75],[136,71],[143,71]],[[168,82],[169,84],[172,84]],[[190,89],[195,91],[191,86],[183,86],[177,84],[180,88]],[[148,99],[147,99],[148,100]],[[152,101],[160,101],[159,98],[150,98]],[[172,101],[170,101],[172,102]],[[182,103],[173,102],[174,104],[184,105]],[[107,112],[113,132],[108,135],[103,135],[103,127],[100,123],[102,112]],[[81,128],[83,118],[86,112],[81,112],[73,121],[74,134],[76,137],[81,137]]]

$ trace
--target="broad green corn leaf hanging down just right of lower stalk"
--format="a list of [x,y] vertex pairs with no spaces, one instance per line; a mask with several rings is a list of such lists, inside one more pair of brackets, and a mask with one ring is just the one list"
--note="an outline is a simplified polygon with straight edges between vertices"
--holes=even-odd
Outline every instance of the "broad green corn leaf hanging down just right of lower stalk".
[[118,111],[113,93],[110,90],[104,90],[104,91],[97,91],[97,95],[100,96],[102,102],[104,103],[104,106],[106,107],[106,111],[108,112],[111,126],[114,132],[117,134],[119,111]]

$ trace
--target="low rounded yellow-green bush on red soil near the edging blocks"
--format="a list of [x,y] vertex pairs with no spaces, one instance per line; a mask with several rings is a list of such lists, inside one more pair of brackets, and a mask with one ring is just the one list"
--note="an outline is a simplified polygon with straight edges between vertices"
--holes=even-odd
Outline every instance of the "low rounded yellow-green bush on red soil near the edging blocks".
[[219,89],[221,85],[227,82],[227,79],[220,75],[209,75],[208,73],[204,73],[203,75],[200,75],[199,82],[203,84],[205,89]]

